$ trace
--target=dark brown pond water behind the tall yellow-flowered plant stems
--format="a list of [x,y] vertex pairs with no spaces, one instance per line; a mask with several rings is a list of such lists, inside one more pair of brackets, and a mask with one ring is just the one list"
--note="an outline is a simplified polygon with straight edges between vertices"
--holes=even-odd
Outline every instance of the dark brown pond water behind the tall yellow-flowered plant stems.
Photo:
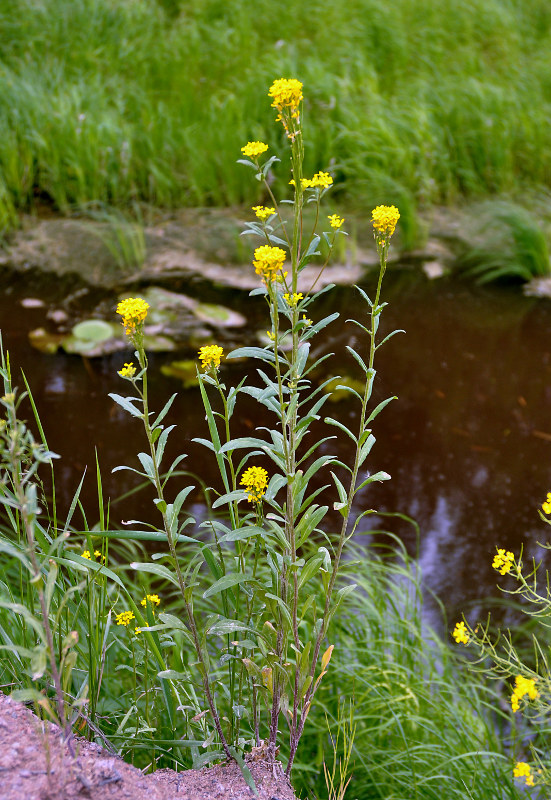
[[[373,290],[370,279],[364,288]],[[12,364],[22,367],[29,379],[49,445],[62,457],[56,465],[60,505],[68,507],[88,466],[83,502],[93,522],[94,448],[106,496],[117,497],[136,483],[132,473],[112,475],[111,469],[118,464],[137,466],[135,454],[144,445],[140,424],[107,396],[128,388],[116,371],[130,353],[83,360],[33,350],[28,332],[44,324],[47,306],[23,309],[20,300],[37,291],[32,284],[4,291],[0,329]],[[523,547],[526,557],[539,559],[545,552],[537,543],[551,540],[537,513],[551,489],[551,302],[524,297],[518,286],[477,288],[446,278],[429,281],[406,268],[387,273],[383,295],[389,305],[382,328],[403,328],[406,333],[378,353],[374,401],[389,395],[398,399],[374,424],[377,444],[367,466],[371,472],[387,471],[392,480],[372,485],[358,496],[357,507],[407,514],[417,521],[420,536],[417,542],[413,527],[405,522],[372,516],[360,526],[358,541],[369,541],[373,528],[395,531],[409,551],[418,554],[425,585],[444,601],[452,621],[460,611],[474,618],[481,613],[482,598],[499,596],[498,576],[491,568],[496,545],[516,553]],[[55,288],[49,299],[55,300]],[[251,332],[266,327],[257,298],[226,293],[217,299],[246,313]],[[351,313],[365,313],[355,290],[339,288],[324,295],[310,316],[319,319],[334,310],[341,312],[341,319],[327,329],[323,342],[315,341],[319,353],[330,350],[338,355],[324,365],[319,380],[329,375],[359,377],[345,354],[346,344],[362,349],[359,329],[345,322]],[[250,343],[251,332],[237,339]],[[191,442],[194,436],[206,435],[198,389],[182,389],[160,372],[162,364],[190,355],[152,355],[151,407],[160,409],[178,392],[170,420],[178,427],[169,455],[187,452],[186,468],[200,473],[208,485],[218,485],[214,458]],[[225,364],[222,378],[235,383],[245,368],[241,363]],[[328,404],[326,409],[354,427],[356,407],[350,401]],[[245,400],[233,433],[246,435],[264,423],[258,409]],[[321,432],[320,426],[313,433]],[[336,452],[346,460],[346,442]],[[111,527],[128,517],[146,518],[150,498],[143,492],[113,505]],[[198,517],[205,515],[199,491],[190,510]]]

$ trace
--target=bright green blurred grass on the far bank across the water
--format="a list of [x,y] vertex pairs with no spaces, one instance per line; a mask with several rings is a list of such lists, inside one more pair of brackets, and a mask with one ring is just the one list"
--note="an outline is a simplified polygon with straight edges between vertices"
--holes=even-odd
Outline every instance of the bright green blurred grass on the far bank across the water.
[[0,224],[37,198],[262,199],[235,160],[278,144],[280,75],[340,203],[518,196],[551,175],[550,26],[544,0],[2,0]]

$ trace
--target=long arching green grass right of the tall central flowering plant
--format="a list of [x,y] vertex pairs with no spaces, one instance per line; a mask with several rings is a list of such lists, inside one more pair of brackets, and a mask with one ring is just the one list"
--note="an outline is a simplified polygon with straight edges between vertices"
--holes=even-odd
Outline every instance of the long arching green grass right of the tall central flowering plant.
[[[385,538],[386,547],[385,547]],[[423,622],[421,575],[388,537],[358,552],[358,584],[335,623],[335,651],[318,700],[333,730],[337,699],[354,702],[356,735],[347,796],[358,800],[521,797],[503,744],[507,714],[495,685],[473,678],[452,647]],[[296,780],[324,796],[332,761],[320,708],[301,742]],[[503,738],[502,738],[503,737]]]

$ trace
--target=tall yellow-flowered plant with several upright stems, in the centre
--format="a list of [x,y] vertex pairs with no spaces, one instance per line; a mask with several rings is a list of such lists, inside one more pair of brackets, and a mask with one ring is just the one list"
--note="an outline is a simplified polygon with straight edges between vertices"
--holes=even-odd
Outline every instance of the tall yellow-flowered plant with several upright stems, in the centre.
[[[112,397],[143,422],[149,449],[139,454],[140,474],[155,487],[155,504],[163,520],[160,530],[168,544],[164,563],[158,558],[155,563],[131,566],[168,580],[179,590],[183,603],[183,619],[161,612],[155,620],[150,619],[154,624],[141,629],[142,635],[177,631],[193,649],[195,673],[190,665],[185,680],[189,685],[199,675],[206,708],[197,699],[199,707],[194,708],[197,713],[189,724],[191,728],[201,725],[207,733],[206,742],[216,747],[207,756],[236,758],[246,773],[241,753],[254,746],[262,747],[265,758],[273,763],[283,740],[280,728],[284,720],[289,775],[316,691],[330,669],[334,648],[328,638],[331,619],[354,589],[354,584],[341,578],[343,549],[360,519],[373,513],[365,511],[354,518],[354,497],[373,481],[390,477],[385,472],[371,473],[365,465],[375,443],[373,421],[393,399],[370,408],[375,353],[392,336],[379,341],[378,329],[384,307],[381,285],[399,212],[394,206],[379,206],[373,212],[380,257],[377,289],[373,299],[358,290],[366,303],[367,321],[352,320],[366,337],[366,354],[347,348],[364,373],[363,393],[337,387],[358,403],[358,426],[353,431],[331,417],[324,419],[331,433],[343,434],[354,442],[352,464],[344,464],[322,452],[331,435],[315,442],[307,438],[312,424],[321,419],[330,394],[323,390],[331,382],[312,385],[310,373],[326,358],[311,358],[312,339],[338,317],[334,313],[313,321],[316,299],[331,287],[315,289],[337,237],[345,235],[344,219],[338,214],[328,215],[329,230],[317,232],[321,201],[333,177],[323,171],[310,179],[302,175],[302,84],[296,79],[277,80],[269,96],[290,147],[290,224],[268,180],[270,169],[279,159],[272,156],[261,163],[268,146],[258,141],[248,142],[242,148],[245,158],[240,159],[254,170],[269,197],[269,205],[253,207],[255,219],[244,231],[244,235],[260,240],[253,258],[259,286],[251,294],[265,299],[269,344],[241,347],[228,354],[217,344],[199,351],[198,379],[209,438],[195,441],[216,459],[221,486],[212,507],[225,509],[222,518],[197,525],[182,511],[192,486],[180,489],[171,501],[167,497],[166,483],[179,459],[162,474],[165,445],[173,429],[165,428],[162,421],[174,398],[156,416],[149,409],[143,344],[147,309],[136,298],[123,301],[118,311],[136,347],[139,364],[138,369],[125,364],[119,374],[137,394]],[[314,205],[316,219],[308,231],[303,215],[306,203]],[[321,256],[322,243],[326,255],[318,262],[316,277],[307,283],[304,270]],[[221,380],[223,360],[233,358],[256,360],[261,386],[246,379],[238,386],[226,386]],[[273,423],[269,429],[258,428],[255,435],[234,438],[232,418],[242,395],[254,398],[264,417],[268,415]],[[267,435],[261,435],[266,430]],[[312,489],[312,478],[320,471],[327,474],[326,485]],[[324,540],[331,507],[340,514],[341,522],[338,532]],[[194,526],[193,535],[183,535],[188,526]],[[178,549],[182,541],[186,549],[193,548],[193,557],[186,552],[183,558]],[[203,582],[206,587],[199,604]],[[164,671],[160,675],[171,681],[172,691],[178,696],[184,674]],[[205,761],[203,756],[201,763]]]

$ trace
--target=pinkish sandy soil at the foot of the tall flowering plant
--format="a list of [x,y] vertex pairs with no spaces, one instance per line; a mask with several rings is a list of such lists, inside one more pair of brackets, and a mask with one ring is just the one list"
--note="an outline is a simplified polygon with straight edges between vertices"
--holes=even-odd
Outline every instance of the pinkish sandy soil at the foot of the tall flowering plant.
[[[144,775],[117,755],[75,737],[73,757],[55,725],[0,692],[0,800],[250,800],[234,762]],[[296,800],[281,767],[257,751],[247,759],[259,800]]]

